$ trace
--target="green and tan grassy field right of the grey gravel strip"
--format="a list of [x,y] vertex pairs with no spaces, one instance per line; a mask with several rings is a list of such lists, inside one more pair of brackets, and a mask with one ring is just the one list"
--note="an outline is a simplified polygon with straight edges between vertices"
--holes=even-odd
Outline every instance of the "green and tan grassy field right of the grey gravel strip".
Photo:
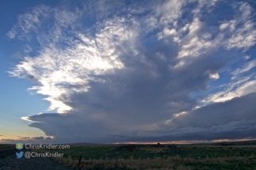
[[[125,145],[124,145],[125,146]],[[71,145],[71,149],[48,149],[64,153],[57,160],[80,169],[255,169],[255,145],[177,145],[178,149],[162,153],[170,145],[140,145],[133,152],[120,145]],[[79,158],[82,159],[79,163]]]

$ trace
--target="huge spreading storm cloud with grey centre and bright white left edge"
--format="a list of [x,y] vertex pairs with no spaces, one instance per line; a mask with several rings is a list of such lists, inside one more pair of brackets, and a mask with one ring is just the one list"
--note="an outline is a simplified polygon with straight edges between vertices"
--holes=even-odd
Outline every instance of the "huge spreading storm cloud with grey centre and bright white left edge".
[[[18,17],[7,36],[25,40],[31,49],[9,73],[36,82],[29,89],[48,96],[49,110],[58,111],[28,116],[35,121],[30,127],[55,138],[82,136],[90,142],[117,142],[124,136],[147,140],[156,132],[165,138],[173,132],[163,133],[162,122],[180,113],[196,118],[192,110],[198,104],[219,102],[211,98],[214,94],[203,95],[208,102],[201,102],[191,93],[218,81],[218,72],[239,57],[230,56],[234,51],[254,47],[254,9],[248,3],[194,3],[192,9],[185,1],[150,2],[151,10],[131,5],[123,13],[109,10],[105,17],[90,15],[88,4],[75,10],[37,6]],[[217,15],[220,6],[234,15]],[[102,13],[101,7],[94,10]],[[184,116],[181,130],[189,126]],[[224,124],[232,121],[238,119]],[[221,126],[218,120],[213,123]]]

